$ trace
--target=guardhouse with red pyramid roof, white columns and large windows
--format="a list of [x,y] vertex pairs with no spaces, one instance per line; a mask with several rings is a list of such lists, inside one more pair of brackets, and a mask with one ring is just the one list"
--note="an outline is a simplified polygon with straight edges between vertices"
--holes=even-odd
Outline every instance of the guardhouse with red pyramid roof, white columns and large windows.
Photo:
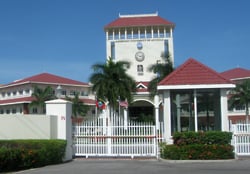
[[235,85],[195,59],[188,59],[157,89],[163,97],[164,138],[174,132],[228,131],[227,91]]

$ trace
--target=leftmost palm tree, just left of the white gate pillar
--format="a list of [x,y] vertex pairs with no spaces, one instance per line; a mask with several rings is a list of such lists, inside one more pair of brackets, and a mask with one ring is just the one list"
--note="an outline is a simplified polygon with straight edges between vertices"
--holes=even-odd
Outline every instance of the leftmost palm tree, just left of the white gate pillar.
[[46,88],[39,88],[38,86],[34,86],[34,92],[31,95],[35,98],[29,106],[38,106],[42,109],[42,113],[45,113],[45,101],[55,99],[55,94],[53,92],[53,89],[50,86],[47,86]]

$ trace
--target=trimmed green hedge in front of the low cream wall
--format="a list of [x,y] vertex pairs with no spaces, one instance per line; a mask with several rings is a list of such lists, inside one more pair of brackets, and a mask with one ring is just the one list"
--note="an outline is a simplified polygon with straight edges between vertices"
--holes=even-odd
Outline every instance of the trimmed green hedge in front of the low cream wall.
[[61,163],[66,140],[0,140],[0,172]]

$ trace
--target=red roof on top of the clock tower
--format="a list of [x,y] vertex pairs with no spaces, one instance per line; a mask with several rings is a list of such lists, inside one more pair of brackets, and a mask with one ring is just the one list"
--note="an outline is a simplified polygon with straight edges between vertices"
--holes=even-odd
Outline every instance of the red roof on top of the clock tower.
[[160,16],[129,16],[119,17],[113,22],[106,25],[104,28],[115,28],[115,27],[139,27],[139,26],[172,26],[174,23],[161,18]]

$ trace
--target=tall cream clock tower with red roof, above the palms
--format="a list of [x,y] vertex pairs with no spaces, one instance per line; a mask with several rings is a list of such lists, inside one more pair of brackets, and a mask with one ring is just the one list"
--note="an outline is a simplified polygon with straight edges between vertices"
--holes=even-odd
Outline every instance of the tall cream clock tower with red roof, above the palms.
[[174,23],[154,14],[119,15],[105,26],[106,56],[131,63],[128,74],[137,82],[149,82],[156,74],[147,69],[169,54],[174,63]]

